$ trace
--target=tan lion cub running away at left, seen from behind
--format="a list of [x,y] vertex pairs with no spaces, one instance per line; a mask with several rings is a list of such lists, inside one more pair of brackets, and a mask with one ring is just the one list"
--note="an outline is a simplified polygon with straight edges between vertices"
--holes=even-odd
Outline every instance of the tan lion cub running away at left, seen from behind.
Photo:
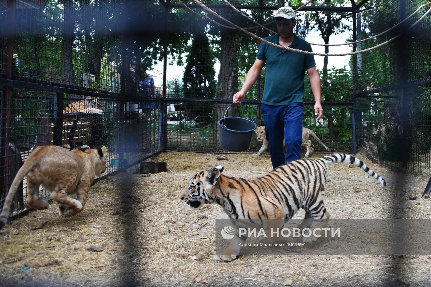
[[[48,202],[39,197],[42,184],[51,191],[51,198],[59,203],[60,215],[72,216],[84,209],[88,190],[94,175],[100,176],[106,169],[104,155],[108,150],[90,149],[82,146],[80,150],[67,150],[57,146],[37,147],[25,160],[7,193],[0,215],[0,229],[9,218],[10,207],[16,190],[27,176],[27,197],[25,203],[35,209],[47,208]],[[68,195],[76,193],[76,200]]]

